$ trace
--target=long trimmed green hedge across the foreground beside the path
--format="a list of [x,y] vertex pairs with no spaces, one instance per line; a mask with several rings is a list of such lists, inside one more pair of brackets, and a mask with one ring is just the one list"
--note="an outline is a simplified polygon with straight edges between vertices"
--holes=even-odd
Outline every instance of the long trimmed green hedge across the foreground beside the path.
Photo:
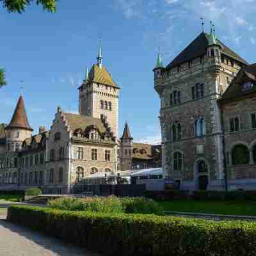
[[11,206],[8,220],[104,255],[255,256],[256,223]]

